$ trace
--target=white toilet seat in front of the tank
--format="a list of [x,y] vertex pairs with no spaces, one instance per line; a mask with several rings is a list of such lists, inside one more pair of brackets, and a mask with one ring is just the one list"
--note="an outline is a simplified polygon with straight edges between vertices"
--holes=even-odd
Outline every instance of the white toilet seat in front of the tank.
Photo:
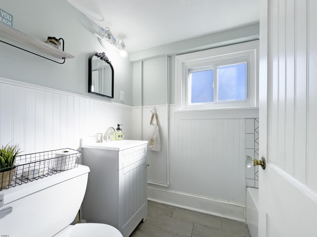
[[113,226],[99,223],[80,223],[68,226],[54,237],[123,237]]

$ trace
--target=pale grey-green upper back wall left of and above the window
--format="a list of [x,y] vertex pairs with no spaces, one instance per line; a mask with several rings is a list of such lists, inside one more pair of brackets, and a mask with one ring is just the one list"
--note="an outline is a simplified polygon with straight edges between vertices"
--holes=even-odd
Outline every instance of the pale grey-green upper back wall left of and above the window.
[[[260,25],[252,24],[232,30],[214,33],[207,36],[182,40],[154,48],[149,48],[142,51],[133,52],[130,54],[130,61],[134,64],[143,62],[143,72],[133,72],[133,82],[144,85],[144,100],[143,105],[160,105],[166,103],[166,93],[168,92],[169,104],[174,104],[174,75],[175,75],[175,56],[195,52],[225,45],[245,42],[249,40],[258,40],[260,34]],[[168,88],[162,86],[162,81],[166,81],[165,57],[168,56]],[[163,62],[164,61],[164,62]],[[139,70],[140,67],[133,67],[134,70]],[[161,74],[164,72],[164,75]],[[143,78],[140,77],[143,73]],[[158,85],[159,83],[159,85]],[[147,86],[148,85],[148,86]],[[155,88],[155,89],[154,89]],[[136,93],[133,91],[133,93]],[[137,92],[139,93],[139,92]],[[164,101],[163,99],[164,98]],[[136,103],[135,103],[136,102]],[[135,101],[133,105],[138,106],[139,101]],[[163,103],[162,103],[163,102]]]

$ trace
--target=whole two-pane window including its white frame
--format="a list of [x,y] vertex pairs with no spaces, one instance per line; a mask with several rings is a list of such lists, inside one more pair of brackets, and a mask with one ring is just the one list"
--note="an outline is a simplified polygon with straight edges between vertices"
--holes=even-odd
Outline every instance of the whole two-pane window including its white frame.
[[256,107],[258,44],[176,56],[176,111]]

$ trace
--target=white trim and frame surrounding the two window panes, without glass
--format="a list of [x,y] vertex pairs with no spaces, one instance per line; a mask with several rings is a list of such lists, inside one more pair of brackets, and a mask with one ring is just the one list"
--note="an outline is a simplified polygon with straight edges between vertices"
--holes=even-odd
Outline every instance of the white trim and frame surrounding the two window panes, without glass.
[[[233,59],[230,61],[230,58]],[[200,105],[187,103],[188,70],[191,68],[206,68],[213,63],[220,65],[229,62],[248,61],[247,64],[247,100],[244,102],[212,102]],[[258,68],[259,40],[229,46],[213,48],[175,57],[175,112],[221,109],[258,108]],[[216,84],[214,84],[216,88]]]

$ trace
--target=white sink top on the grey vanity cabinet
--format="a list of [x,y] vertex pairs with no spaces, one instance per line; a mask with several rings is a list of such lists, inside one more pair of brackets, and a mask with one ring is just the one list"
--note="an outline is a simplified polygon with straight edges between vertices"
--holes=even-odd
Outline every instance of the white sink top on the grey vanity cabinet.
[[131,147],[136,147],[140,145],[147,144],[148,141],[140,140],[119,140],[119,141],[110,141],[110,142],[96,142],[95,137],[82,138],[81,147],[82,148],[95,148],[111,151],[122,151],[129,149]]

